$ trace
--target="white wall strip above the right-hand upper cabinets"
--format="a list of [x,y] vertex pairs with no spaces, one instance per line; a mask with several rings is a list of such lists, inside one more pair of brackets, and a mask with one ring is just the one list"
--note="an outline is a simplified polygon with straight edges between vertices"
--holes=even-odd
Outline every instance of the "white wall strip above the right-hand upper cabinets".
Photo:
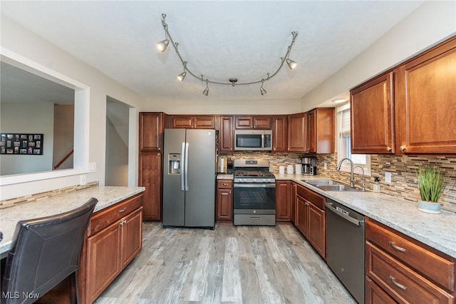
[[381,71],[456,33],[456,1],[426,1],[366,51],[301,99],[303,111],[315,108]]

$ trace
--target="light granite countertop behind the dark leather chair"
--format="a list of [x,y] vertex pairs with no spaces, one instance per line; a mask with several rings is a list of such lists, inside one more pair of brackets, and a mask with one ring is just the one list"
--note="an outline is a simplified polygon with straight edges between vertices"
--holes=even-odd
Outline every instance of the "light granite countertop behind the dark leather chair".
[[90,198],[98,199],[95,211],[99,211],[123,201],[125,198],[142,193],[144,190],[144,187],[92,187],[2,209],[0,211],[0,231],[4,238],[0,242],[0,255],[11,248],[14,229],[16,229],[18,221],[70,211],[83,205]]

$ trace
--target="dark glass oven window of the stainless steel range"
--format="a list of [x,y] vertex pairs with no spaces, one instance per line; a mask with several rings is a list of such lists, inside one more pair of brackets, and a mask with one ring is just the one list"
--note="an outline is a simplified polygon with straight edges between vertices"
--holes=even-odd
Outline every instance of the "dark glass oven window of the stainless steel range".
[[234,188],[234,209],[275,210],[276,188]]

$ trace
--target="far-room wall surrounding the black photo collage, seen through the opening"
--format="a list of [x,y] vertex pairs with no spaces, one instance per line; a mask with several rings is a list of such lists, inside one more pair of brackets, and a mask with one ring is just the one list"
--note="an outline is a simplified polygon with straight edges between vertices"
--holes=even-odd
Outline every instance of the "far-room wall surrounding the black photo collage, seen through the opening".
[[2,154],[0,174],[19,174],[52,170],[53,103],[9,103],[1,101],[2,133],[42,133],[43,155]]

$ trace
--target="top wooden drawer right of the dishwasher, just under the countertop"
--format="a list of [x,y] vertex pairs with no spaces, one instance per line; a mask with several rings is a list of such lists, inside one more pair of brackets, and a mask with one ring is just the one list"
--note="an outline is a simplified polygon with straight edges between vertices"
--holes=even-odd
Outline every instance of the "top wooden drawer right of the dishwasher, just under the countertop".
[[366,221],[366,239],[377,244],[447,290],[455,291],[455,262],[413,242],[397,231],[372,220]]

